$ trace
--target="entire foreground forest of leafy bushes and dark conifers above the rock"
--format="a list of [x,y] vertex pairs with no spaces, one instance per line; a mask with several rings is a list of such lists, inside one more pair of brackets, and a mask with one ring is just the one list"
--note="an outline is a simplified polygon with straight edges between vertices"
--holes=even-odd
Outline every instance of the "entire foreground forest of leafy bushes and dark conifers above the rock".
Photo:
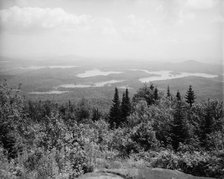
[[[122,93],[122,94],[121,94]],[[99,168],[159,167],[224,177],[222,101],[145,84],[115,88],[109,112],[82,99],[29,101],[0,84],[0,178],[70,179]]]

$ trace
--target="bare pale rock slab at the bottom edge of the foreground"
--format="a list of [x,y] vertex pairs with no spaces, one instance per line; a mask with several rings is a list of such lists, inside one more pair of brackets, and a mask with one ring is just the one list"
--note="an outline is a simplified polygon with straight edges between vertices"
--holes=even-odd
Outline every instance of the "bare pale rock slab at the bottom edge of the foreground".
[[213,179],[161,168],[110,169],[85,174],[79,179]]

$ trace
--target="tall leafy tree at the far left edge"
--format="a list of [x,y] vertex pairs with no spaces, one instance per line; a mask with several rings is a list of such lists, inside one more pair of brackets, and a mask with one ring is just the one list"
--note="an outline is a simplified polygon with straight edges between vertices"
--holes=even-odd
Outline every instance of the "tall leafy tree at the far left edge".
[[0,84],[0,145],[7,151],[8,159],[21,152],[21,131],[29,124],[24,107],[19,91],[14,92],[6,81]]

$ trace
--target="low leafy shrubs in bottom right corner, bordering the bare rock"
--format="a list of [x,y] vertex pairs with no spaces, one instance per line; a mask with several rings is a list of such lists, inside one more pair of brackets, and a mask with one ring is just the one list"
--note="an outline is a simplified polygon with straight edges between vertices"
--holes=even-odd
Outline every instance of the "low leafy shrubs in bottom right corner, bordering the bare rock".
[[222,177],[223,157],[206,152],[159,152],[151,162],[152,167],[179,170],[196,176]]

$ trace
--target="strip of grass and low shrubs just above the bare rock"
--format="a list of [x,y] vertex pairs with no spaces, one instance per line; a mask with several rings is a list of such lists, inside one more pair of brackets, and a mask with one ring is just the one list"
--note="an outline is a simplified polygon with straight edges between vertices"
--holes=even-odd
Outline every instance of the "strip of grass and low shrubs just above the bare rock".
[[127,158],[97,159],[97,169],[164,168],[194,176],[224,177],[224,152],[147,151]]

